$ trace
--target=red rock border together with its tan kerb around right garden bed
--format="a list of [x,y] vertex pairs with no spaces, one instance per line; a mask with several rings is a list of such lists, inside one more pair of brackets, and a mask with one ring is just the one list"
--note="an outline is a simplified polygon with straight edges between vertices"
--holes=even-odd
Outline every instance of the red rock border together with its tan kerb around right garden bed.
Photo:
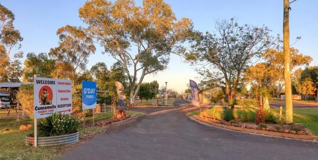
[[218,121],[218,120],[215,120],[212,118],[207,118],[207,117],[200,116],[200,115],[199,116],[193,115],[192,117],[196,120],[201,121],[201,122],[211,124],[212,126],[225,128],[225,129],[229,129],[229,130],[236,130],[236,131],[256,133],[256,134],[264,134],[264,135],[268,135],[268,136],[277,136],[277,137],[286,137],[286,138],[318,141],[318,136],[307,136],[307,135],[304,135],[303,131],[298,131],[297,134],[290,133],[290,132],[287,133],[287,131],[285,132],[284,130],[277,131],[276,129],[272,129],[271,131],[269,131],[268,128],[260,128],[260,127],[246,128],[246,126],[244,124],[243,125],[238,125],[236,123],[231,124],[231,123],[226,122],[226,121]]

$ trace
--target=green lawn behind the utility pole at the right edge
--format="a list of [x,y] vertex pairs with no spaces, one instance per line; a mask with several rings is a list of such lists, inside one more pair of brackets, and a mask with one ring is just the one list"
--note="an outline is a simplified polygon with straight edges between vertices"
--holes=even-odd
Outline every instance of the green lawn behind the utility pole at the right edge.
[[[271,108],[276,114],[279,114],[278,108]],[[304,125],[318,135],[318,108],[294,108],[294,123]],[[282,110],[282,117],[285,119],[285,109]]]

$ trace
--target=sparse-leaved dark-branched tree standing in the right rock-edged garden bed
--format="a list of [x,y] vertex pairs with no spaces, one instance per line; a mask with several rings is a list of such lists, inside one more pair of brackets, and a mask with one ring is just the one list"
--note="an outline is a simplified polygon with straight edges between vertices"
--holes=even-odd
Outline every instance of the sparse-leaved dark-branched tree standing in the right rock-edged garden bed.
[[215,22],[215,34],[197,31],[191,49],[185,57],[207,80],[215,80],[226,87],[231,108],[241,85],[244,71],[259,60],[261,53],[276,47],[277,38],[267,27],[239,26],[231,18]]

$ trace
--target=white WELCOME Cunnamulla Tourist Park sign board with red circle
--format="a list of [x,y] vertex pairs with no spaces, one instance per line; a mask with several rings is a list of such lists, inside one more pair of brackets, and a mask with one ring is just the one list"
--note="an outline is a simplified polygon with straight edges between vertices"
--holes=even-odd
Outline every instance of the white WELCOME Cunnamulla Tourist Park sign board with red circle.
[[[34,77],[34,119],[72,113],[70,80]],[[58,90],[59,89],[59,93]]]

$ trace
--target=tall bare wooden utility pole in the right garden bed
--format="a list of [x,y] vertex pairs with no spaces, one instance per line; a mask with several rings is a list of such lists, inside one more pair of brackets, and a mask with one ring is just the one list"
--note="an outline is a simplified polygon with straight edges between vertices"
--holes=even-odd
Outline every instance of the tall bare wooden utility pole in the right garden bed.
[[293,122],[293,101],[292,101],[292,84],[290,81],[290,51],[289,51],[289,1],[284,0],[284,73],[285,73],[285,95],[286,95],[286,124]]

